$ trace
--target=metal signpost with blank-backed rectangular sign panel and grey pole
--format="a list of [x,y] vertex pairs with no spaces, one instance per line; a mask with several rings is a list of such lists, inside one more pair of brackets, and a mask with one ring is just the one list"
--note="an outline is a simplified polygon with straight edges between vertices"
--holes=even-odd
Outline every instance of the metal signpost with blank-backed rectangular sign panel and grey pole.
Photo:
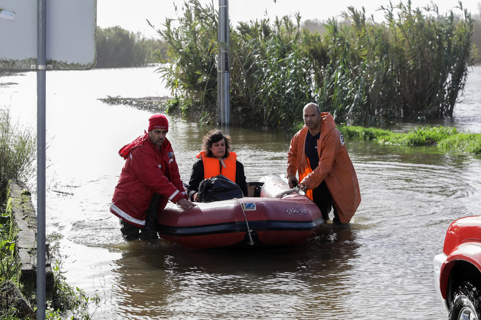
[[[36,22],[36,23],[35,23]],[[37,319],[46,303],[46,71],[91,69],[97,0],[0,0],[0,68],[37,72]]]

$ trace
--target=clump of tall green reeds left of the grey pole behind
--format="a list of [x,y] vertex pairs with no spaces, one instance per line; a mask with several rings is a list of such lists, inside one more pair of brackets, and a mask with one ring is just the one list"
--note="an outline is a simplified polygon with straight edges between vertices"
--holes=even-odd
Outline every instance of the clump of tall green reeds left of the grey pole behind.
[[189,0],[182,9],[183,15],[175,7],[177,19],[167,18],[157,30],[167,44],[169,62],[157,71],[185,112],[211,112],[217,103],[218,16],[213,2],[203,7]]

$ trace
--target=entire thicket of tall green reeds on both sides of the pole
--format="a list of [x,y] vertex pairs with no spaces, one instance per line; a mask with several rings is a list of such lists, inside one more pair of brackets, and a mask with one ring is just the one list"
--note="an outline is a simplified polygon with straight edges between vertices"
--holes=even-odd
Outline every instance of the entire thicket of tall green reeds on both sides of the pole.
[[[232,122],[291,126],[310,101],[347,123],[451,116],[472,65],[470,13],[460,2],[462,17],[410,1],[381,9],[386,22],[375,23],[348,7],[323,35],[302,29],[299,14],[231,28]],[[158,30],[169,47],[158,71],[182,111],[203,119],[217,110],[217,23],[213,3],[187,0]]]

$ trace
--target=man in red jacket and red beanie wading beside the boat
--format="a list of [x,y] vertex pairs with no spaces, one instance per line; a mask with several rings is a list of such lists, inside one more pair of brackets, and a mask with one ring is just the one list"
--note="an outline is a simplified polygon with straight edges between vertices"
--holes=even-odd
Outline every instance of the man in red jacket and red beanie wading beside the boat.
[[156,239],[157,214],[170,200],[185,209],[195,206],[185,192],[163,114],[149,118],[148,132],[119,150],[125,159],[110,211],[120,218],[126,240]]

